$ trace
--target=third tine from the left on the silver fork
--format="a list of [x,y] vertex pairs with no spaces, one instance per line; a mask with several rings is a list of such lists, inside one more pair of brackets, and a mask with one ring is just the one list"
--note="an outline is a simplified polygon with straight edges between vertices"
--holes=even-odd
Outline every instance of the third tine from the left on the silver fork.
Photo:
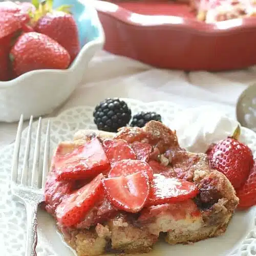
[[32,178],[31,178],[32,187],[38,186],[40,141],[41,141],[41,117],[39,117],[38,119],[36,138],[35,138],[35,151],[33,156]]

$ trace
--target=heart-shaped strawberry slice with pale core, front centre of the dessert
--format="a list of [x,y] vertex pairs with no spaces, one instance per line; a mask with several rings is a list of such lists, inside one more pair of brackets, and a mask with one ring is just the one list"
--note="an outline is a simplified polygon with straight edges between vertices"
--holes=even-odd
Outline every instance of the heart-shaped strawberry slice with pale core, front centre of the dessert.
[[145,172],[103,179],[102,183],[112,205],[128,212],[140,211],[150,193],[150,178]]

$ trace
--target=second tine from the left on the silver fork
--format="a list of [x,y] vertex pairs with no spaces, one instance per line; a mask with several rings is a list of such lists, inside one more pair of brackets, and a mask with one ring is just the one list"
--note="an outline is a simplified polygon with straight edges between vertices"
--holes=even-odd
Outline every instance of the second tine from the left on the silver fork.
[[29,120],[28,134],[27,134],[25,154],[24,154],[23,167],[22,167],[22,181],[21,181],[21,183],[25,186],[28,183],[29,153],[30,153],[30,140],[31,140],[31,132],[32,132],[32,123],[33,123],[33,116],[31,116],[30,120]]

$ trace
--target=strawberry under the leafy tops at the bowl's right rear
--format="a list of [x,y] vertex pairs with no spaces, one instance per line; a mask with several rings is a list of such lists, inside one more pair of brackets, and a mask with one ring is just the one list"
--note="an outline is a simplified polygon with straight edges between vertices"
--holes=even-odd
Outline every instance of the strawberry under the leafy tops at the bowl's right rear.
[[38,19],[35,31],[48,35],[70,54],[71,62],[80,51],[78,29],[73,16],[62,11],[50,11]]

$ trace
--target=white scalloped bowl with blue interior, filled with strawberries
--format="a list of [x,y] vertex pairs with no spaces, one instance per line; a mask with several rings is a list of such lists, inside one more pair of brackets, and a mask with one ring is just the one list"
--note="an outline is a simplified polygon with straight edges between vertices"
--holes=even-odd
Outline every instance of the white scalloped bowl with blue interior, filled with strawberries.
[[51,113],[102,49],[96,11],[87,3],[56,0],[1,2],[0,14],[0,121]]

